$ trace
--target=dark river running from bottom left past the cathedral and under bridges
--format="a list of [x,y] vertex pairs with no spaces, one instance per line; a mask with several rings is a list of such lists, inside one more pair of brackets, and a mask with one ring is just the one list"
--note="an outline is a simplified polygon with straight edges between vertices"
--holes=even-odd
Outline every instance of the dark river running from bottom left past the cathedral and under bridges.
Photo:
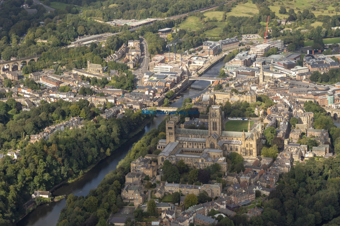
[[[220,73],[221,67],[224,65],[223,61],[211,67],[202,77],[217,77]],[[194,89],[186,89],[179,95],[180,99],[176,99],[170,104],[170,107],[181,107],[183,100],[187,97],[194,98],[207,91],[210,85],[209,81],[195,81],[191,84]],[[100,161],[94,168],[89,170],[84,177],[72,182],[71,184],[61,187],[53,192],[53,195],[75,194],[77,196],[86,196],[91,189],[97,188],[99,183],[104,179],[105,175],[117,168],[118,162],[125,157],[132,147],[132,144],[140,140],[151,129],[157,128],[158,124],[163,121],[164,115],[159,115],[153,119],[145,128],[139,132],[129,142],[123,144],[114,153]],[[17,223],[18,226],[46,226],[56,225],[59,219],[59,213],[63,207],[66,206],[66,199],[59,202],[47,203],[38,206],[34,211],[25,216]]]

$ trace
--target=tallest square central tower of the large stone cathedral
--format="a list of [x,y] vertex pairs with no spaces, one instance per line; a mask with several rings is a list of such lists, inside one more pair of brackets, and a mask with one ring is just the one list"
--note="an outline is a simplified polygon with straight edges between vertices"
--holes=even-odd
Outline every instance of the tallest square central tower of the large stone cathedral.
[[222,107],[220,105],[212,105],[209,109],[209,136],[214,133],[221,136],[222,130],[224,130]]

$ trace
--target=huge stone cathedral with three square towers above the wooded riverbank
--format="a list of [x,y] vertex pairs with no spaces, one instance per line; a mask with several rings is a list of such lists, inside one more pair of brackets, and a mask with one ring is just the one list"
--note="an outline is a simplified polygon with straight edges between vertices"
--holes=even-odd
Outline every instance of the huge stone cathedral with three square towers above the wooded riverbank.
[[[170,115],[166,122],[166,146],[158,155],[158,164],[168,159],[175,163],[183,159],[186,163],[204,168],[210,163],[225,161],[224,154],[237,152],[246,159],[260,155],[262,149],[262,126],[248,126],[247,133],[224,131],[224,114],[220,105],[209,109],[208,130],[183,129],[180,116]],[[208,163],[205,163],[208,161]],[[205,164],[202,164],[205,163]],[[201,165],[201,166],[200,166]]]

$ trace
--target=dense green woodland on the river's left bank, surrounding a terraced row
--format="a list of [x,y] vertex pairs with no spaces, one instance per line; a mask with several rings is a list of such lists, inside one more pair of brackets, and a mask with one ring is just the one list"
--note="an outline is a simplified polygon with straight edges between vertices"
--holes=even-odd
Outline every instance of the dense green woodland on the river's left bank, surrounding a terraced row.
[[[19,219],[24,213],[23,204],[35,190],[49,190],[81,175],[91,164],[111,155],[152,117],[127,110],[122,119],[106,120],[98,116],[97,122],[89,121],[98,114],[97,110],[89,109],[85,100],[76,104],[58,101],[21,112],[15,120],[0,124],[2,150],[21,150],[20,160],[12,161],[7,155],[0,160],[1,226],[13,225]],[[29,135],[51,122],[78,115],[84,117],[84,127],[57,131],[47,141],[28,143]]]

